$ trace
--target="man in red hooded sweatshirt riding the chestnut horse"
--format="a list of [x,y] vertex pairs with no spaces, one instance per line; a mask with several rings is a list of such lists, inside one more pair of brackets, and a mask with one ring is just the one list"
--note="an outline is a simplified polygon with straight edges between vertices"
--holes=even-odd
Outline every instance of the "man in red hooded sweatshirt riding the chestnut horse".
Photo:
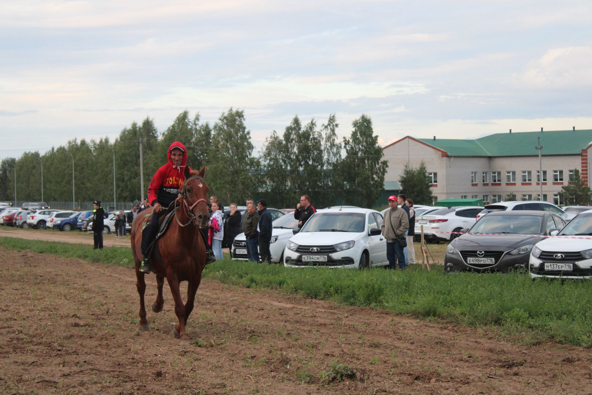
[[[168,158],[169,162],[156,171],[148,187],[148,202],[154,210],[150,223],[142,230],[141,252],[144,255],[144,259],[140,264],[140,272],[146,274],[150,273],[150,245],[158,233],[160,217],[167,212],[166,209],[178,197],[179,188],[185,182],[187,150],[184,144],[179,142],[170,144]],[[207,240],[203,232],[201,232],[201,235],[204,237],[204,240]],[[208,246],[208,243],[205,243],[205,245],[207,248],[207,263],[214,262],[214,252]]]

